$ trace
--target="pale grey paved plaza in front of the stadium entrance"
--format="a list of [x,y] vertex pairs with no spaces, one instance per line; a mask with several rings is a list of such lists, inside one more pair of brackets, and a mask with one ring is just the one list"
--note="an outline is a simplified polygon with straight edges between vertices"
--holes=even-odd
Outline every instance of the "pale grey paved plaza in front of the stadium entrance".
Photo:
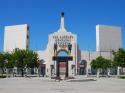
[[101,78],[96,81],[55,81],[49,78],[0,79],[0,93],[125,93],[125,80]]

